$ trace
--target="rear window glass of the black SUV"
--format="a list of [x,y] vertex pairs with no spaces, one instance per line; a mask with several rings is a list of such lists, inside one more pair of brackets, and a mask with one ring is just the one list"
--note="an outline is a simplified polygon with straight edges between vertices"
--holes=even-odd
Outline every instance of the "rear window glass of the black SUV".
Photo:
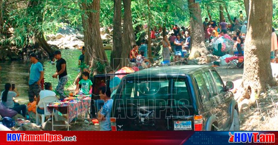
[[[191,98],[184,79],[174,79],[174,86],[170,86],[170,79],[140,79],[125,80],[122,88],[120,103],[134,104],[138,107],[162,107],[169,105],[170,90],[173,88],[173,105],[191,105]],[[170,86],[170,87],[169,87]]]

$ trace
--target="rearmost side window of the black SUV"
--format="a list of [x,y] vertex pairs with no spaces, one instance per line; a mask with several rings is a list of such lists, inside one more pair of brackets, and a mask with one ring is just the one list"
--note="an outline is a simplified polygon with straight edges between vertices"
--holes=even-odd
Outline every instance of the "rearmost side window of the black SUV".
[[197,73],[197,74],[194,74],[193,76],[195,78],[195,81],[196,81],[196,84],[198,87],[199,95],[202,99],[202,102],[204,103],[204,102],[208,101],[208,97],[209,97],[209,92],[207,90],[206,83],[201,74]]

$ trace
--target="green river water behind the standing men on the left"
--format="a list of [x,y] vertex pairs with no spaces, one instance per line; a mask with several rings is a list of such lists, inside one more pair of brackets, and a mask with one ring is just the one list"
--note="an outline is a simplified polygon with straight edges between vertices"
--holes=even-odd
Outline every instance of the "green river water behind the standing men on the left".
[[[110,60],[111,50],[106,50],[108,60]],[[72,85],[74,79],[79,73],[78,57],[81,55],[80,50],[61,50],[62,58],[67,62],[67,75],[69,81],[66,87]],[[56,66],[50,64],[49,60],[40,60],[44,69],[44,81],[52,83],[53,89],[58,84],[58,79],[52,78],[52,75],[56,72]],[[5,83],[15,84],[19,91],[20,96],[17,98],[20,103],[28,103],[28,78],[29,69],[31,66],[30,60],[26,61],[5,61],[0,62],[2,69],[0,70],[0,90],[3,91]]]

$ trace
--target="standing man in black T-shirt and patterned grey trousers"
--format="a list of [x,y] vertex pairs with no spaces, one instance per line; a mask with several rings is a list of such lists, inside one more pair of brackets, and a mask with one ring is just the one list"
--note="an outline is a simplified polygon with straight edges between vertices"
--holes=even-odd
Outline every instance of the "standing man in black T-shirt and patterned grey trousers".
[[64,88],[67,83],[68,77],[67,77],[67,64],[66,61],[61,56],[61,51],[55,51],[54,57],[57,60],[56,61],[56,73],[52,75],[53,78],[57,79],[57,76],[59,76],[59,82],[56,87],[56,91],[60,94],[60,98],[64,99],[66,96],[64,94]]

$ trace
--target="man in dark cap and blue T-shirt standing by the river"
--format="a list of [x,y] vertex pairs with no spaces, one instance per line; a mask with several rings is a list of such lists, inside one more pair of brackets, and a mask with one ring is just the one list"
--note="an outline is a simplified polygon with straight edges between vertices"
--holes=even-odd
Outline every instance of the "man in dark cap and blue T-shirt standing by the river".
[[30,67],[28,97],[29,102],[32,103],[34,101],[34,97],[38,97],[41,91],[41,80],[43,79],[43,65],[38,61],[39,58],[34,53],[30,55],[30,60],[32,62],[32,65]]

